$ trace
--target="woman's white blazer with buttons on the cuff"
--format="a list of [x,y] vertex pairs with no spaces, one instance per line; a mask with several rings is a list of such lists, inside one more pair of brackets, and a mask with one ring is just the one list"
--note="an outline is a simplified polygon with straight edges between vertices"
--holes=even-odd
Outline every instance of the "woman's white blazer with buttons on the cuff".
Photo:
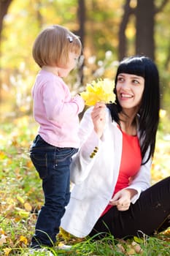
[[[71,165],[71,199],[61,219],[61,227],[80,238],[88,236],[112,198],[122,154],[122,132],[112,121],[109,110],[100,140],[93,129],[91,109],[85,112],[80,123],[80,150],[74,155]],[[95,147],[98,151],[90,157]],[[150,187],[150,167],[151,159],[141,165],[129,184],[128,188],[137,191],[131,203],[135,203],[140,193]]]

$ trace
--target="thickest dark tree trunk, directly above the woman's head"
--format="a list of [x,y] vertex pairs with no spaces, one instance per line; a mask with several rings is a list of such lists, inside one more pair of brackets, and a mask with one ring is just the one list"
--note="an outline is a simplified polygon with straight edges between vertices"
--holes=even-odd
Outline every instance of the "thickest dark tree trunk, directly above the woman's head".
[[136,54],[155,59],[154,0],[138,0],[136,6]]

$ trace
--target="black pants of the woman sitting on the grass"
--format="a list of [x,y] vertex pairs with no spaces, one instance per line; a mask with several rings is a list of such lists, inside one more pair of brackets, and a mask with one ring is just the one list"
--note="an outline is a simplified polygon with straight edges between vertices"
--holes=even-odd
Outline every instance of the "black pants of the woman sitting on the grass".
[[131,203],[128,211],[118,211],[116,206],[98,219],[90,237],[101,238],[112,234],[115,238],[150,236],[155,231],[170,227],[170,177],[159,181],[142,192],[135,204]]

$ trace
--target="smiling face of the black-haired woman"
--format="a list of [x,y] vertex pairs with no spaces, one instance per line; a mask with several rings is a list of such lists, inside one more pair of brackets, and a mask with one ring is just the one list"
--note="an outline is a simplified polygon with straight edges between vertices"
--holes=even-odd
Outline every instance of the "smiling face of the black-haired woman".
[[117,99],[123,109],[139,110],[144,91],[144,78],[120,73],[117,76]]

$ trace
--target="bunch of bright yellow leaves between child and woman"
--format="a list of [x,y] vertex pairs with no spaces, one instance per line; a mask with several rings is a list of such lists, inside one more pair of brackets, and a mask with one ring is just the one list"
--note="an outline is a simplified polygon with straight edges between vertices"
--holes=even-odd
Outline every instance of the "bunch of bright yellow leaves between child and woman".
[[115,102],[115,94],[113,92],[115,83],[107,78],[93,80],[92,83],[86,85],[85,91],[80,93],[85,105],[93,106],[97,102],[112,103]]

